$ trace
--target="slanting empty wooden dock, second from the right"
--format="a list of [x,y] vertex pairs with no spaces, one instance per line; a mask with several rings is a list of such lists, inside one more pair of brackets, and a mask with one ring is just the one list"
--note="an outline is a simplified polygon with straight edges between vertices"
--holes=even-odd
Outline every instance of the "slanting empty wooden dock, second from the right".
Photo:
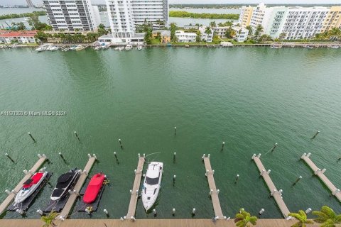
[[252,159],[256,163],[261,176],[263,177],[264,181],[266,182],[266,185],[269,187],[269,190],[271,192],[271,196],[274,196],[274,199],[277,203],[277,206],[281,210],[284,218],[288,218],[288,214],[290,213],[290,211],[282,199],[282,190],[278,191],[276,189],[274,182],[272,182],[272,180],[269,176],[270,170],[266,171],[264,165],[261,163],[260,157],[261,157],[261,154],[259,154],[257,156],[256,156],[256,154],[254,154],[252,156]]

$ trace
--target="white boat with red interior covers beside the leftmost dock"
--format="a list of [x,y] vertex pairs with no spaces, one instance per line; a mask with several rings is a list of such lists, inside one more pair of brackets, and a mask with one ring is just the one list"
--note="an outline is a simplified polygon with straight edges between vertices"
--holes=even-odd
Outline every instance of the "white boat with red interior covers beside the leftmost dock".
[[14,199],[14,203],[18,204],[23,202],[28,196],[31,196],[33,192],[39,187],[39,185],[44,181],[48,172],[44,172],[43,170],[39,170],[26,182],[23,183],[23,187],[20,189],[18,194],[16,194],[16,198]]

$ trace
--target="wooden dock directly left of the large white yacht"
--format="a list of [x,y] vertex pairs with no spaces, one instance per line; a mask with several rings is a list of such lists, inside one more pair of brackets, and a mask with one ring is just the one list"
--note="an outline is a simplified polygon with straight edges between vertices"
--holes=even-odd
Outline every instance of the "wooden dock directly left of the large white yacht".
[[144,170],[144,157],[139,157],[139,163],[135,173],[134,185],[131,190],[131,197],[129,202],[129,209],[126,213],[126,218],[134,218],[136,211],[137,199],[139,197],[139,189],[141,184],[142,170]]

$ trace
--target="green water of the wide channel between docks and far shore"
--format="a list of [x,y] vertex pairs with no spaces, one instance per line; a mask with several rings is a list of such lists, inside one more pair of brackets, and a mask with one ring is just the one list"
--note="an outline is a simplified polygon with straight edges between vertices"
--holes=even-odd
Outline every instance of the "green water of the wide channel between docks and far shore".
[[[234,216],[241,207],[253,214],[264,208],[262,217],[281,218],[251,162],[252,154],[262,153],[289,210],[328,205],[341,212],[339,201],[300,161],[303,153],[312,153],[316,165],[327,168],[325,175],[341,187],[340,50],[151,48],[37,53],[22,49],[1,50],[0,59],[0,111],[67,112],[67,116],[0,116],[1,153],[16,160],[15,165],[2,156],[0,192],[13,189],[38,153],[50,158],[46,166],[54,173],[53,185],[71,167],[82,169],[87,153],[96,153],[99,161],[91,174],[103,171],[111,184],[92,218],[105,218],[103,209],[110,218],[119,218],[129,206],[137,154],[158,153],[148,156],[149,161],[164,162],[157,218],[191,218],[193,208],[195,218],[212,218],[201,161],[203,153],[210,153],[224,215]],[[321,133],[310,140],[317,130]],[[225,146],[220,151],[222,141]],[[274,143],[278,143],[274,153],[264,155]],[[299,175],[303,179],[291,187]],[[27,218],[38,218],[36,210],[47,205],[51,192],[48,186],[43,189]],[[0,194],[1,200],[5,197]],[[15,212],[4,216],[18,217]],[[76,212],[70,218],[89,217]],[[154,218],[145,214],[141,200],[136,218]]]

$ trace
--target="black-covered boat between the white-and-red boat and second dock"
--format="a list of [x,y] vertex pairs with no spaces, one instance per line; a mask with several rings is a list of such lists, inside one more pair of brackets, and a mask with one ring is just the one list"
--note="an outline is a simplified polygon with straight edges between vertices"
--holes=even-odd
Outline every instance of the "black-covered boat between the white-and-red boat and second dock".
[[50,196],[50,199],[55,201],[60,199],[63,195],[67,193],[68,189],[71,189],[72,184],[80,175],[80,170],[70,170],[69,172],[60,175],[57,180],[57,185]]

